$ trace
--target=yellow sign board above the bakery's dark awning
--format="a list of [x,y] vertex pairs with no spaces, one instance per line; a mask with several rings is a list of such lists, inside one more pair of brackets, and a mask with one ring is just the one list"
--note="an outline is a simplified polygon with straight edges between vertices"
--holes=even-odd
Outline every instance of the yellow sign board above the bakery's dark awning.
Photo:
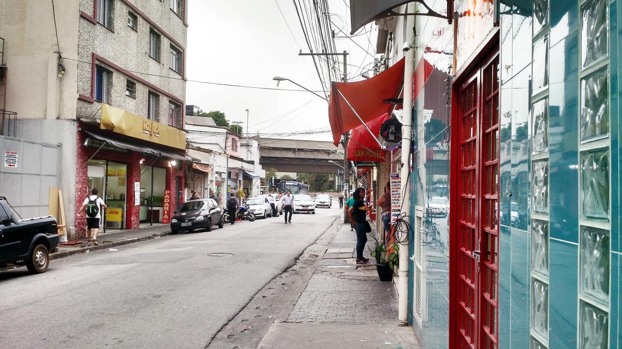
[[104,103],[101,104],[100,129],[178,149],[186,148],[186,133],[182,130]]

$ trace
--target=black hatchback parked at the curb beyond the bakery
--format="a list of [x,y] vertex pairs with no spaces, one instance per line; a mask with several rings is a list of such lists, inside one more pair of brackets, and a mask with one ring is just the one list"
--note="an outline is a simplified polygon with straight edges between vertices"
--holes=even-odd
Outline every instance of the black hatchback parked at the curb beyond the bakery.
[[195,229],[211,231],[212,225],[223,227],[223,210],[213,199],[196,199],[186,201],[175,211],[170,220],[170,232],[175,235],[182,230],[188,232]]

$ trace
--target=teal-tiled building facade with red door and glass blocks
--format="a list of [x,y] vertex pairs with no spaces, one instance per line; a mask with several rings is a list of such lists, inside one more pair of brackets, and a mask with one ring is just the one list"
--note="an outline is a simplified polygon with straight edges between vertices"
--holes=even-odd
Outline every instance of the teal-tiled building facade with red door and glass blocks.
[[[620,348],[622,4],[425,2],[451,22],[417,16],[411,43],[422,348]],[[387,60],[403,18],[376,21]]]

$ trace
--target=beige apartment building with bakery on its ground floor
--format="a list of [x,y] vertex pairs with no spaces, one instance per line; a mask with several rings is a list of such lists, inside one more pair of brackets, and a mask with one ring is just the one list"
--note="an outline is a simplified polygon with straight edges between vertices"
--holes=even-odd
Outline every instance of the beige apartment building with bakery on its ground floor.
[[186,19],[186,0],[0,3],[4,109],[13,136],[60,143],[70,237],[92,188],[104,229],[165,224],[183,200]]

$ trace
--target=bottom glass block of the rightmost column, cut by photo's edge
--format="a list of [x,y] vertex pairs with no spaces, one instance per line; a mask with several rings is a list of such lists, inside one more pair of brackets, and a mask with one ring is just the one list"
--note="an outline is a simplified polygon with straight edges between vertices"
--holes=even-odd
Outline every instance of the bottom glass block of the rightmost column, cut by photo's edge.
[[588,302],[579,306],[579,349],[606,349],[609,338],[609,315]]

